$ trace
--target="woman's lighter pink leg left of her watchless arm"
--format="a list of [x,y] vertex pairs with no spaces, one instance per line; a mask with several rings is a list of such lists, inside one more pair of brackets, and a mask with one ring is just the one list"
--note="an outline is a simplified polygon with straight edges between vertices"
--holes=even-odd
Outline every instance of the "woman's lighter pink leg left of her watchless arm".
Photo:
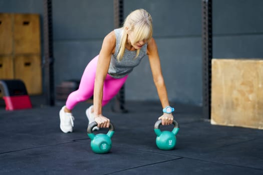
[[88,63],[81,77],[78,90],[73,91],[68,96],[66,101],[67,109],[72,110],[77,103],[85,101],[93,95],[98,57],[99,55]]

